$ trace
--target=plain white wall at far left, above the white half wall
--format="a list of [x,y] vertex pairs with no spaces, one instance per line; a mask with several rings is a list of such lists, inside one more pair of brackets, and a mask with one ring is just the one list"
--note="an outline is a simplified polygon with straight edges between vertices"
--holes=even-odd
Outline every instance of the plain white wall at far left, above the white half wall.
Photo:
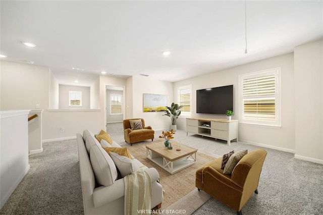
[[1,110],[48,108],[49,68],[1,62]]

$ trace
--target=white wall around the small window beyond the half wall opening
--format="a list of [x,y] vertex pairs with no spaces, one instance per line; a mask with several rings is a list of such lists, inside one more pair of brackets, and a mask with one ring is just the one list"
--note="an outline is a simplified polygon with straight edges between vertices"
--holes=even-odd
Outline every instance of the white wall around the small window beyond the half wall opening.
[[[70,106],[69,91],[82,92],[82,106]],[[90,87],[69,86],[60,84],[59,109],[90,109]]]

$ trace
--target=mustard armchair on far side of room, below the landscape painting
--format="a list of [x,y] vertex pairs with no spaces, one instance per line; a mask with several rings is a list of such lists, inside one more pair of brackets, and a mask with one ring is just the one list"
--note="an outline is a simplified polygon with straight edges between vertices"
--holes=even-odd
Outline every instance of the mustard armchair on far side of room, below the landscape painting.
[[[141,120],[143,129],[131,130],[130,120]],[[123,121],[123,129],[125,141],[132,145],[132,143],[151,139],[153,141],[155,131],[151,126],[145,126],[145,121],[142,118],[126,119]]]

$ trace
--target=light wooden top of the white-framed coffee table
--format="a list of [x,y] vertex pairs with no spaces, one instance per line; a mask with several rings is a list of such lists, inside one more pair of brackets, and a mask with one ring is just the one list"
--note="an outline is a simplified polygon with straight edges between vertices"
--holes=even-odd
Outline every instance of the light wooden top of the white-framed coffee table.
[[156,154],[158,154],[161,157],[165,157],[166,159],[168,159],[170,161],[174,161],[179,158],[188,156],[190,154],[196,153],[196,151],[197,151],[197,149],[183,145],[183,144],[180,144],[181,150],[176,151],[176,144],[178,142],[172,141],[172,140],[170,140],[170,142],[172,143],[173,149],[168,149],[167,147],[165,147],[164,142],[165,142],[164,139],[155,140],[155,141],[153,141],[153,143],[147,144],[146,148],[155,152]]

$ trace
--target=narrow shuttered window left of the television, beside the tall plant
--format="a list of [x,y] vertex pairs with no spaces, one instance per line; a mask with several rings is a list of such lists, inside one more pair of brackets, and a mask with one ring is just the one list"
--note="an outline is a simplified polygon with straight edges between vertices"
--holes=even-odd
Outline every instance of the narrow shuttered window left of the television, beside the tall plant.
[[178,87],[178,104],[183,105],[181,115],[185,117],[191,116],[191,103],[192,103],[192,86]]

